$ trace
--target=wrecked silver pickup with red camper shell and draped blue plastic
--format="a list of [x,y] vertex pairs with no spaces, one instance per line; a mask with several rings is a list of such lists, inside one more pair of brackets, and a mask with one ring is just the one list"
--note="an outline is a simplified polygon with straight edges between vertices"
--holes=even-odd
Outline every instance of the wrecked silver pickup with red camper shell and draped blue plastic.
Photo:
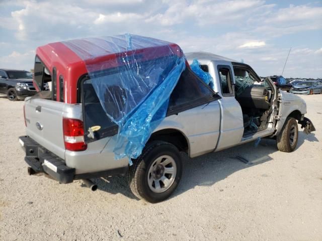
[[[191,67],[190,67],[191,66]],[[49,73],[49,74],[48,74]],[[44,83],[50,91],[39,91]],[[59,183],[127,175],[149,202],[176,189],[184,162],[259,138],[292,152],[306,104],[279,91],[247,64],[218,55],[183,54],[173,43],[122,35],[37,48],[34,84],[25,100],[30,175]]]

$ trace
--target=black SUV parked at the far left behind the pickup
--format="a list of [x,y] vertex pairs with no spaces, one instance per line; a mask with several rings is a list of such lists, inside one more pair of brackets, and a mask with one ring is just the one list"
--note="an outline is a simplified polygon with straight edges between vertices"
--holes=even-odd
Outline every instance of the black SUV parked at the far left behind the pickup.
[[0,93],[9,100],[25,99],[36,94],[32,73],[25,70],[0,69]]

